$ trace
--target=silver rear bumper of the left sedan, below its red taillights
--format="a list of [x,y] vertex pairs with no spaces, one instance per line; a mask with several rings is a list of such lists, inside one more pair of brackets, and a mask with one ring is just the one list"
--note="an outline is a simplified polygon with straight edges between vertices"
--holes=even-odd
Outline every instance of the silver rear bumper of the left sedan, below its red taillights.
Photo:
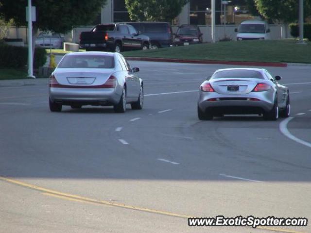
[[57,88],[50,87],[50,100],[63,105],[80,103],[82,105],[114,105],[119,103],[121,93],[115,88]]

